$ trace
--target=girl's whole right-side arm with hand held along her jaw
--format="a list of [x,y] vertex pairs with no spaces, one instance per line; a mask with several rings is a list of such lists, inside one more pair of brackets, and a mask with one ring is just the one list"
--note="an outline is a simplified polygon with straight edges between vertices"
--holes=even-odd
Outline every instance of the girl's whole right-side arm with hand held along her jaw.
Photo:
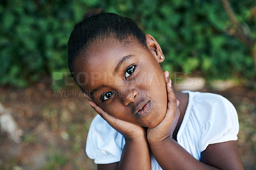
[[[171,82],[166,84],[168,109],[164,120],[154,128],[148,128],[147,139],[150,150],[163,169],[243,169],[236,145],[227,143],[210,144],[202,152],[202,162],[172,139],[179,118],[179,102],[175,99]],[[158,133],[157,133],[158,132]]]

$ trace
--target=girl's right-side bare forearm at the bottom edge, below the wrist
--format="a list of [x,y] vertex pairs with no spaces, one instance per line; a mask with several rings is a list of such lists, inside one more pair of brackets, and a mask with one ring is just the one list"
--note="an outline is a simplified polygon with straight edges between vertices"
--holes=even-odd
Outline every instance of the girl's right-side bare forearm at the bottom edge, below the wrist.
[[159,143],[149,144],[149,146],[163,169],[216,169],[196,160],[171,137]]

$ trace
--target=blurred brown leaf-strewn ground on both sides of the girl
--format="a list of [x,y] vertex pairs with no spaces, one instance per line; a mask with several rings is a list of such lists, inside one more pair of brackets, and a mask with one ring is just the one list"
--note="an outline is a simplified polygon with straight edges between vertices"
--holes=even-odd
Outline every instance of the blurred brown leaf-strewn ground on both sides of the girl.
[[[256,92],[243,86],[201,91],[223,95],[235,105],[244,169],[256,169]],[[0,94],[5,112],[12,115],[17,130],[22,130],[21,140],[15,141],[1,129],[0,169],[96,169],[84,151],[96,114],[79,89],[54,91],[51,80],[45,78],[25,89],[2,87]]]

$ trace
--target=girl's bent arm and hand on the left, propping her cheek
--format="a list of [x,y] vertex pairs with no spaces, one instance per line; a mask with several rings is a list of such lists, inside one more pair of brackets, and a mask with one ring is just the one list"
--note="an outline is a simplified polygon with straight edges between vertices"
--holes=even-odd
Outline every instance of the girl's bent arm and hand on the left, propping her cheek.
[[[88,99],[90,100],[90,98]],[[145,128],[114,118],[92,100],[88,103],[104,120],[108,121],[111,127],[125,137],[125,146],[120,162],[100,164],[98,169],[151,169],[150,150]]]

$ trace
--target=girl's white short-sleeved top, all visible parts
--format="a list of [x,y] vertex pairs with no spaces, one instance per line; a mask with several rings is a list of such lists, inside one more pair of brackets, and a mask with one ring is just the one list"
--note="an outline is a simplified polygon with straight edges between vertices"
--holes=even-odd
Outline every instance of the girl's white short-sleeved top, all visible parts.
[[[209,144],[236,141],[239,131],[237,112],[224,97],[212,93],[182,91],[189,94],[188,106],[177,134],[177,142],[200,160]],[[86,153],[95,164],[119,162],[124,137],[99,115],[93,119],[86,141]],[[152,169],[161,169],[151,156]]]

